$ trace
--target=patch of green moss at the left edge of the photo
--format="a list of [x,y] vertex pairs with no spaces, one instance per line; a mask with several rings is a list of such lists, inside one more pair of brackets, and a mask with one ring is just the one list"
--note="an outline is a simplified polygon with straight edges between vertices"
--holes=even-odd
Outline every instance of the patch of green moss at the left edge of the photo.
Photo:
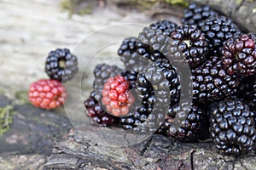
[[0,136],[9,131],[10,124],[13,122],[12,116],[14,116],[14,114],[15,111],[12,105],[0,107]]

